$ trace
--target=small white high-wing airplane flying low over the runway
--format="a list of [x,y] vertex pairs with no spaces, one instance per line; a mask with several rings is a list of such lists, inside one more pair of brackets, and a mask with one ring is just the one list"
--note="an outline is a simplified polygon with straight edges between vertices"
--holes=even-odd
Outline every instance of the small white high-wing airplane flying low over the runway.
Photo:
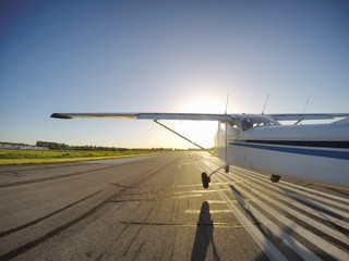
[[[198,148],[221,159],[225,164],[207,175],[202,173],[204,188],[210,176],[229,165],[294,177],[325,185],[349,188],[349,113],[315,114],[198,114],[198,113],[53,113],[51,117],[110,117],[153,120]],[[304,120],[336,120],[327,124],[300,124]],[[160,120],[216,121],[216,153],[185,138],[160,123]],[[280,121],[296,121],[281,125]]]

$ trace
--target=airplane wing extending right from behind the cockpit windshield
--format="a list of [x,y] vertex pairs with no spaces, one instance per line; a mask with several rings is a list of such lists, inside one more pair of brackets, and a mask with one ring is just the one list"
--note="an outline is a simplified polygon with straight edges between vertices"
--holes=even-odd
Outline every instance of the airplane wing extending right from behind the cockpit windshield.
[[349,113],[305,113],[305,114],[268,114],[276,121],[303,121],[348,117]]

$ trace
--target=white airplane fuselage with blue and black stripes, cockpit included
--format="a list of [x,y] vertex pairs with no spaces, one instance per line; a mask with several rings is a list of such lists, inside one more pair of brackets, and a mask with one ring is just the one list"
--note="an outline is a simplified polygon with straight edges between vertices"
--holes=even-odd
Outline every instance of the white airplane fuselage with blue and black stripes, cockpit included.
[[[245,127],[245,119],[267,124]],[[219,126],[216,152],[229,165],[349,187],[348,123],[279,125],[268,116],[245,115]]]

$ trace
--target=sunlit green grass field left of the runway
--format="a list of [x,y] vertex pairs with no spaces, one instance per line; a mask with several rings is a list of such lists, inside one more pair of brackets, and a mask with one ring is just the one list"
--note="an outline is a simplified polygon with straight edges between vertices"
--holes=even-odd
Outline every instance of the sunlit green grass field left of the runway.
[[0,149],[0,165],[115,159],[158,153],[156,150],[92,151],[92,150],[20,150]]

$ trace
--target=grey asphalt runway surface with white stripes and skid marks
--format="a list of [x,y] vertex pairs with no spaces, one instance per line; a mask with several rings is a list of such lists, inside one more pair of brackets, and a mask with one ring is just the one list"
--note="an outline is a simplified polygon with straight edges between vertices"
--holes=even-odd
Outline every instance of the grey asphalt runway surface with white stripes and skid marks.
[[349,260],[349,192],[205,152],[0,167],[0,260]]

